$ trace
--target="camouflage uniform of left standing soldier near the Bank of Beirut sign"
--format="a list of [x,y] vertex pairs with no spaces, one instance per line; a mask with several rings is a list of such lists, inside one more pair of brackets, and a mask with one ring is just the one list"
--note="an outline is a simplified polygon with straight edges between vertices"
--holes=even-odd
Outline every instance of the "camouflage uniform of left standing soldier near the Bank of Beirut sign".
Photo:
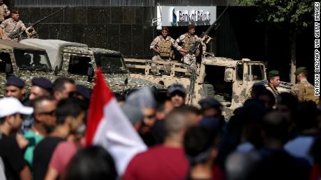
[[171,58],[172,58],[171,57],[171,53],[172,52],[170,52],[172,50],[172,47],[177,49],[177,51],[179,51],[179,49],[181,49],[179,44],[177,44],[177,42],[172,37],[167,36],[164,39],[162,35],[158,35],[153,40],[153,42],[151,42],[151,45],[150,45],[149,48],[153,49],[154,47],[159,49],[160,54],[158,56],[154,56],[153,58],[151,58],[151,60],[167,60],[167,61],[170,61]]

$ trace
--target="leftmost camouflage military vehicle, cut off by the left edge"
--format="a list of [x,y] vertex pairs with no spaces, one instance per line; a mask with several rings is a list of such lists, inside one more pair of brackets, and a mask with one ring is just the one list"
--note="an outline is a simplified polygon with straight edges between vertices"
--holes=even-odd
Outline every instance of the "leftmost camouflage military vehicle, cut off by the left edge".
[[0,96],[6,88],[6,79],[17,76],[31,85],[33,77],[53,80],[52,67],[45,49],[20,44],[13,40],[0,40]]

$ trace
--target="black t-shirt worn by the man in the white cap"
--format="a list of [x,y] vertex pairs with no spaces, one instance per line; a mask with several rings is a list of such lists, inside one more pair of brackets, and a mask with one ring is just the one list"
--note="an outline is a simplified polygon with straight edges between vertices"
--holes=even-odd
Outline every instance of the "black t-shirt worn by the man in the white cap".
[[0,133],[0,156],[6,169],[6,178],[20,179],[19,172],[27,165],[15,138]]

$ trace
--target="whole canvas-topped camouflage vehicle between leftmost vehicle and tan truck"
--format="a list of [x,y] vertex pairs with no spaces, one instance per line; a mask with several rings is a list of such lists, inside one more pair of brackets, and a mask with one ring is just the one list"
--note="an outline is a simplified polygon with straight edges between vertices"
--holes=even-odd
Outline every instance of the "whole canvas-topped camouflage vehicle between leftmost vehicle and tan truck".
[[62,40],[26,39],[20,43],[43,47],[50,58],[54,74],[73,78],[76,83],[89,88],[93,87],[92,79],[96,70],[96,62],[102,68],[105,80],[113,92],[153,85],[156,88],[164,88],[162,85],[143,79],[130,78],[124,58],[117,51],[89,49],[86,44]]

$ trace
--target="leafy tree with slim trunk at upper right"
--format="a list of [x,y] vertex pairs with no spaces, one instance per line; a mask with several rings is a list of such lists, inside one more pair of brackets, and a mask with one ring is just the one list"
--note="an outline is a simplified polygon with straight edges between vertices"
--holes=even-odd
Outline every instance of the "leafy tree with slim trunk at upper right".
[[236,0],[241,6],[257,6],[257,22],[288,26],[290,34],[290,80],[295,83],[297,33],[313,26],[314,1],[311,0]]

